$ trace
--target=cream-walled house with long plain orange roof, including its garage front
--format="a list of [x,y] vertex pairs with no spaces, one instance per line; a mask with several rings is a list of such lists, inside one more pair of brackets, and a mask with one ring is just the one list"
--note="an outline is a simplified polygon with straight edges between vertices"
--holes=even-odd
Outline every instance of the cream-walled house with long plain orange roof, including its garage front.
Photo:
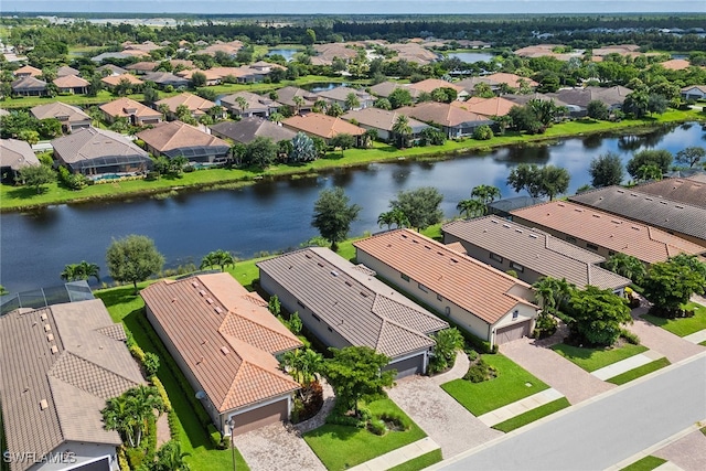
[[538,307],[530,285],[410,229],[353,243],[360,264],[496,345],[530,335]]

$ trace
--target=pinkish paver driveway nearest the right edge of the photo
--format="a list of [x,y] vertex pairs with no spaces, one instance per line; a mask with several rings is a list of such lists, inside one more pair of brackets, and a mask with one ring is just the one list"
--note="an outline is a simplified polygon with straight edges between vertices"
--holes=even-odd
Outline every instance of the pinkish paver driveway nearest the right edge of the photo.
[[627,329],[640,338],[640,343],[650,350],[660,352],[671,363],[681,362],[684,358],[694,356],[704,351],[700,345],[695,345],[672,332],[654,325],[641,318],[650,310],[650,304],[643,303],[640,308],[631,312],[634,322],[627,325]]

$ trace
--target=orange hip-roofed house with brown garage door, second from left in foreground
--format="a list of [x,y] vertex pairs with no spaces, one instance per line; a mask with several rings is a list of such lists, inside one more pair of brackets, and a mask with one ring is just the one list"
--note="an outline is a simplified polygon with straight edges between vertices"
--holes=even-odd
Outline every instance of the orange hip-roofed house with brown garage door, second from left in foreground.
[[300,386],[277,357],[302,344],[263,298],[228,274],[161,280],[140,296],[147,318],[218,430],[229,436],[232,418],[235,435],[288,420],[291,395]]

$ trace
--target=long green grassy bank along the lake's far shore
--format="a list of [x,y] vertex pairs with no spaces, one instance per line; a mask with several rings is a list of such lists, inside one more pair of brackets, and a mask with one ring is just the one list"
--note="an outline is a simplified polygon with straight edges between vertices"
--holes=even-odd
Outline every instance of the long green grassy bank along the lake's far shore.
[[319,172],[341,167],[359,167],[373,162],[384,162],[398,159],[443,159],[459,153],[488,151],[495,147],[538,143],[559,138],[609,131],[621,132],[666,122],[696,120],[699,119],[699,117],[703,119],[704,115],[694,110],[671,110],[659,118],[649,120],[624,120],[621,122],[579,120],[556,125],[549,128],[545,135],[539,136],[507,132],[505,136],[494,137],[488,141],[464,139],[459,141],[447,141],[443,146],[416,147],[402,150],[386,143],[376,142],[371,149],[349,149],[344,151],[343,154],[341,154],[341,152],[331,152],[327,158],[309,162],[306,165],[279,164],[272,165],[267,170],[201,170],[184,173],[181,178],[162,178],[154,181],[119,181],[90,185],[79,191],[66,189],[58,183],[51,183],[46,185],[46,190],[41,194],[38,194],[36,191],[30,188],[0,185],[0,211],[23,211],[53,204],[149,196],[189,189],[212,190],[234,186],[237,188],[238,185],[250,184],[259,179],[296,174],[314,175]]

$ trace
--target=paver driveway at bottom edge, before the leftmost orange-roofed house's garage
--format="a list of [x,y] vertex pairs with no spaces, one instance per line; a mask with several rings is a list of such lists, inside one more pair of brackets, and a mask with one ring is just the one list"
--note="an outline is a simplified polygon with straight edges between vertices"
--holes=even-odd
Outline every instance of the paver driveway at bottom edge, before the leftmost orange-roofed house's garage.
[[325,471],[321,460],[291,426],[272,424],[237,436],[234,442],[254,471]]

